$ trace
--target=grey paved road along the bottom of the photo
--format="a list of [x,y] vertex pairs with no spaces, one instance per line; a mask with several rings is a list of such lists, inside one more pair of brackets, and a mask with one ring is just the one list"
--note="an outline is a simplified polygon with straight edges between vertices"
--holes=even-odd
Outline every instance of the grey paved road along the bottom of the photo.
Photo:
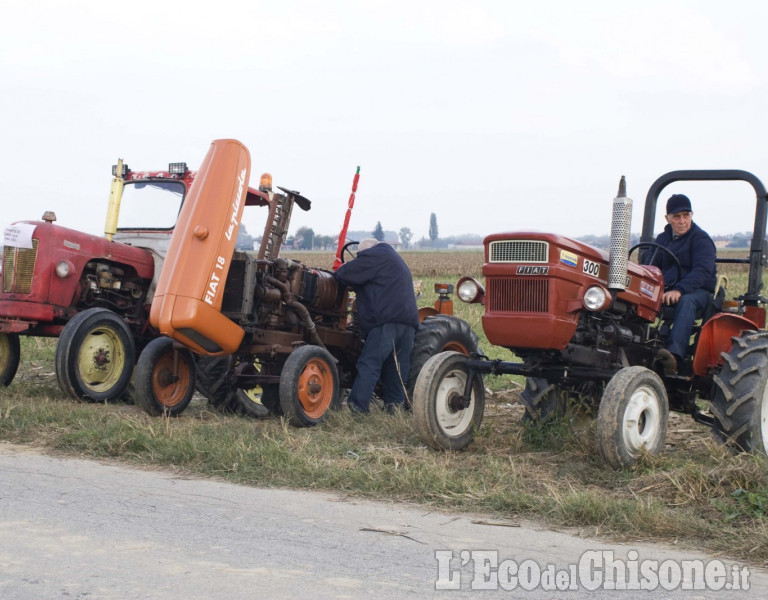
[[[0,443],[3,600],[768,598],[768,575],[754,569],[747,578],[749,592],[681,591],[679,586],[617,592],[602,585],[587,591],[585,582],[599,584],[615,572],[605,568],[610,555],[601,550],[615,552],[614,558],[631,553],[638,565],[646,559],[709,559],[678,549],[608,545],[529,524],[495,523],[488,516],[54,458]],[[484,550],[498,552],[501,581],[507,587],[517,582],[516,589],[505,591],[489,579],[495,568],[488,569],[491,576],[475,574]],[[438,559],[436,551],[445,554]],[[591,575],[574,576],[582,573],[584,556],[590,558],[584,564],[593,567]],[[462,558],[472,560],[462,566]],[[527,581],[535,583],[537,574],[544,582],[548,564],[551,573],[562,573],[561,587],[570,576],[568,585],[580,591],[559,592],[554,578],[532,591],[521,589]],[[679,563],[667,564],[673,576]],[[707,564],[709,581],[722,583],[719,562]],[[631,563],[622,566],[631,574]],[[722,566],[730,583],[732,563]],[[483,580],[496,590],[472,589]],[[445,589],[453,585],[462,589]]]

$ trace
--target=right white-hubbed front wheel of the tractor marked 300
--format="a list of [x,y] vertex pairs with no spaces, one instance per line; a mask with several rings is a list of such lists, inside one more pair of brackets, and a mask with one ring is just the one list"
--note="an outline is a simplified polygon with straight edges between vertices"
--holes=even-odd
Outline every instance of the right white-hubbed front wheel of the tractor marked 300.
[[643,449],[658,454],[667,436],[669,404],[659,376],[625,367],[605,386],[597,413],[600,453],[614,469],[637,462]]

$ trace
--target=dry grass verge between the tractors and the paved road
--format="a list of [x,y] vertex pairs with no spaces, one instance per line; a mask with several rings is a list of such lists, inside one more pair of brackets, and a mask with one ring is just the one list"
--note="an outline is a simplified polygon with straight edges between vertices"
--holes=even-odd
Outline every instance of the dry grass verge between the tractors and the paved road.
[[667,542],[768,562],[768,461],[734,454],[687,417],[633,469],[602,462],[594,423],[523,425],[513,394],[488,399],[473,445],[424,447],[410,415],[334,413],[311,429],[223,415],[195,399],[177,419],[66,399],[43,358],[0,389],[0,439],[265,487],[408,501],[529,518],[623,542]]

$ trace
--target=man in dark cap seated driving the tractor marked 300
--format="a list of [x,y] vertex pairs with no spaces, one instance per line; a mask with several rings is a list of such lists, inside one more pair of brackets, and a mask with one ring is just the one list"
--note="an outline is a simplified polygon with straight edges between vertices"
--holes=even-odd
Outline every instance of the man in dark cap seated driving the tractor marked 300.
[[[658,252],[652,264],[661,269],[666,285],[663,302],[675,305],[672,331],[666,350],[659,353],[664,372],[677,372],[677,365],[686,354],[696,320],[709,303],[717,285],[715,243],[706,231],[693,222],[693,210],[688,196],[674,194],[667,200],[667,225],[656,237],[656,243],[668,248],[680,261],[680,276],[671,256]],[[653,252],[652,250],[650,251]]]

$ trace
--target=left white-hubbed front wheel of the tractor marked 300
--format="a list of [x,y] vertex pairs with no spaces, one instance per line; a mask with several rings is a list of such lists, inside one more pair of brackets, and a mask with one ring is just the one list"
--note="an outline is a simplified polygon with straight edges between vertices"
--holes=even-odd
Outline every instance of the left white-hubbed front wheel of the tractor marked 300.
[[480,427],[485,410],[485,387],[479,375],[472,382],[469,402],[466,387],[467,357],[460,352],[441,352],[421,369],[413,394],[413,418],[422,441],[436,450],[461,450]]

